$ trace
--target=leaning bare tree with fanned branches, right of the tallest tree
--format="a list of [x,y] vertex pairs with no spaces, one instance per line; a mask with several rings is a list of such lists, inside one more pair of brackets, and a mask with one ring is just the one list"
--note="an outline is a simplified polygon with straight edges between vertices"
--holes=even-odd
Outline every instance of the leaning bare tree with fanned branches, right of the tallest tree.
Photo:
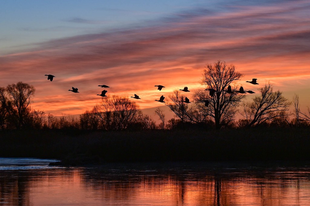
[[290,102],[282,96],[279,90],[274,92],[270,82],[258,90],[260,96],[254,97],[252,102],[243,104],[242,115],[246,118],[248,127],[272,122],[279,117],[285,119],[290,115],[286,113]]

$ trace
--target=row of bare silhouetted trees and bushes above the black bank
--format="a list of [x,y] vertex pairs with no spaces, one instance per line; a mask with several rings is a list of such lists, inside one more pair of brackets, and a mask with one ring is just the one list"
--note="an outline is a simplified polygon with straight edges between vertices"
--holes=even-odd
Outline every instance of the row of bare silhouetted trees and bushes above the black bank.
[[[35,88],[18,82],[0,87],[0,128],[6,129],[79,129],[79,130],[174,130],[177,128],[243,128],[243,127],[310,127],[310,111],[300,111],[299,97],[288,100],[282,92],[274,91],[270,82],[257,88],[251,101],[238,90],[237,80],[243,74],[234,65],[217,61],[207,64],[201,85],[191,92],[191,103],[179,90],[165,99],[165,105],[175,118],[166,119],[159,107],[154,116],[143,114],[139,105],[128,97],[103,97],[93,109],[79,117],[46,114],[30,107]],[[253,95],[253,94],[249,94]],[[291,108],[291,109],[290,109]],[[236,119],[237,116],[241,119]],[[157,123],[159,120],[160,123]]]

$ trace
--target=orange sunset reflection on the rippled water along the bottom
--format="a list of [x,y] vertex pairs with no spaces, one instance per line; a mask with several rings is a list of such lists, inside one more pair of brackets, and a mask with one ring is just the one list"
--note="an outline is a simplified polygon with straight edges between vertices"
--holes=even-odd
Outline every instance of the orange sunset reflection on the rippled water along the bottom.
[[0,205],[308,205],[308,174],[10,171],[1,172]]

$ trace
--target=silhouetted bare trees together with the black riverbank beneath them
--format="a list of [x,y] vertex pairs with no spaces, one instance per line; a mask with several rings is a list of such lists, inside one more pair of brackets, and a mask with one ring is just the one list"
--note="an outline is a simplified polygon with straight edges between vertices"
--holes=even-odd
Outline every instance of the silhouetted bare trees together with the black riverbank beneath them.
[[[78,118],[55,117],[31,109],[32,85],[0,87],[0,157],[56,158],[63,164],[310,160],[310,111],[300,111],[298,95],[289,101],[268,83],[245,101],[235,83],[242,76],[225,62],[206,65],[205,88],[192,91],[190,104],[175,90],[165,99],[175,118],[166,120],[157,108],[159,124],[128,97],[102,97]],[[244,118],[237,120],[238,113]]]

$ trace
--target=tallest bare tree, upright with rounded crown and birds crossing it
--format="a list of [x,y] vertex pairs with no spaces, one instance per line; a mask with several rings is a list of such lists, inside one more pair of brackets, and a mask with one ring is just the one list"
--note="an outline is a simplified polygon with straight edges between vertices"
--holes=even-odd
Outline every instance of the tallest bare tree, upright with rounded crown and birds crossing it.
[[[193,98],[196,101],[200,113],[204,116],[210,116],[215,122],[215,128],[220,129],[225,125],[232,123],[236,117],[238,106],[241,104],[245,95],[237,92],[226,92],[229,85],[232,91],[236,90],[234,84],[240,80],[243,74],[236,71],[234,65],[227,65],[226,62],[218,60],[212,64],[207,64],[203,71],[201,84],[209,90],[198,90]],[[201,102],[209,101],[206,107]]]

